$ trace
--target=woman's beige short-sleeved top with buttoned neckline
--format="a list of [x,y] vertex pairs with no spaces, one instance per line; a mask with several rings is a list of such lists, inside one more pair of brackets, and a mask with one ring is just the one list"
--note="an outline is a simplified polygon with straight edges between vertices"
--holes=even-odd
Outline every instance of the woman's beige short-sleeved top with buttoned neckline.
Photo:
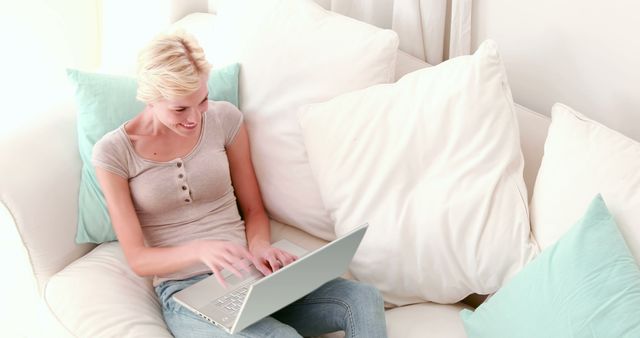
[[[209,102],[202,132],[183,158],[157,162],[141,157],[122,124],[93,148],[92,163],[129,181],[147,245],[174,246],[194,239],[246,245],[244,222],[231,184],[225,146],[235,138],[242,113],[228,102]],[[210,272],[204,264],[166,276],[154,285]]]

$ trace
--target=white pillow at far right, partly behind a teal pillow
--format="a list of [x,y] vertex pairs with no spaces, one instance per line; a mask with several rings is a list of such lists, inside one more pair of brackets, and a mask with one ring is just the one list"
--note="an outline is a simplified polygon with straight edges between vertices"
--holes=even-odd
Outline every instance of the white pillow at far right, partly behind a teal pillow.
[[640,262],[640,143],[562,104],[551,115],[531,200],[540,247],[555,243],[601,193]]

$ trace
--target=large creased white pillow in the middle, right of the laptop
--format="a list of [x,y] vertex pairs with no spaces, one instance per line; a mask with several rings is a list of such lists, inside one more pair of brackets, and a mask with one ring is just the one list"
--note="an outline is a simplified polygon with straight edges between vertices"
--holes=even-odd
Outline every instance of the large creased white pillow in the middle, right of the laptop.
[[302,110],[309,161],[351,272],[388,302],[489,294],[535,254],[513,101],[495,43]]

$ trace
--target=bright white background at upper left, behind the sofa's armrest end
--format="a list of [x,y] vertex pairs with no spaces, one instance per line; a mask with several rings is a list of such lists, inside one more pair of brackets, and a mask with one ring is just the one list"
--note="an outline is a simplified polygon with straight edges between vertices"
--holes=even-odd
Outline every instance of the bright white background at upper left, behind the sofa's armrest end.
[[1,0],[0,139],[71,95],[66,68],[129,72],[137,51],[207,0]]

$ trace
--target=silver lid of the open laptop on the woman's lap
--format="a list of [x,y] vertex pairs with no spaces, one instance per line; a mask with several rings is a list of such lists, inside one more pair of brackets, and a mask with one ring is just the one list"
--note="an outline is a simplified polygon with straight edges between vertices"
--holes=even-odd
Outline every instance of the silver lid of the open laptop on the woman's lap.
[[231,333],[282,309],[347,271],[369,224],[310,252],[253,284]]

